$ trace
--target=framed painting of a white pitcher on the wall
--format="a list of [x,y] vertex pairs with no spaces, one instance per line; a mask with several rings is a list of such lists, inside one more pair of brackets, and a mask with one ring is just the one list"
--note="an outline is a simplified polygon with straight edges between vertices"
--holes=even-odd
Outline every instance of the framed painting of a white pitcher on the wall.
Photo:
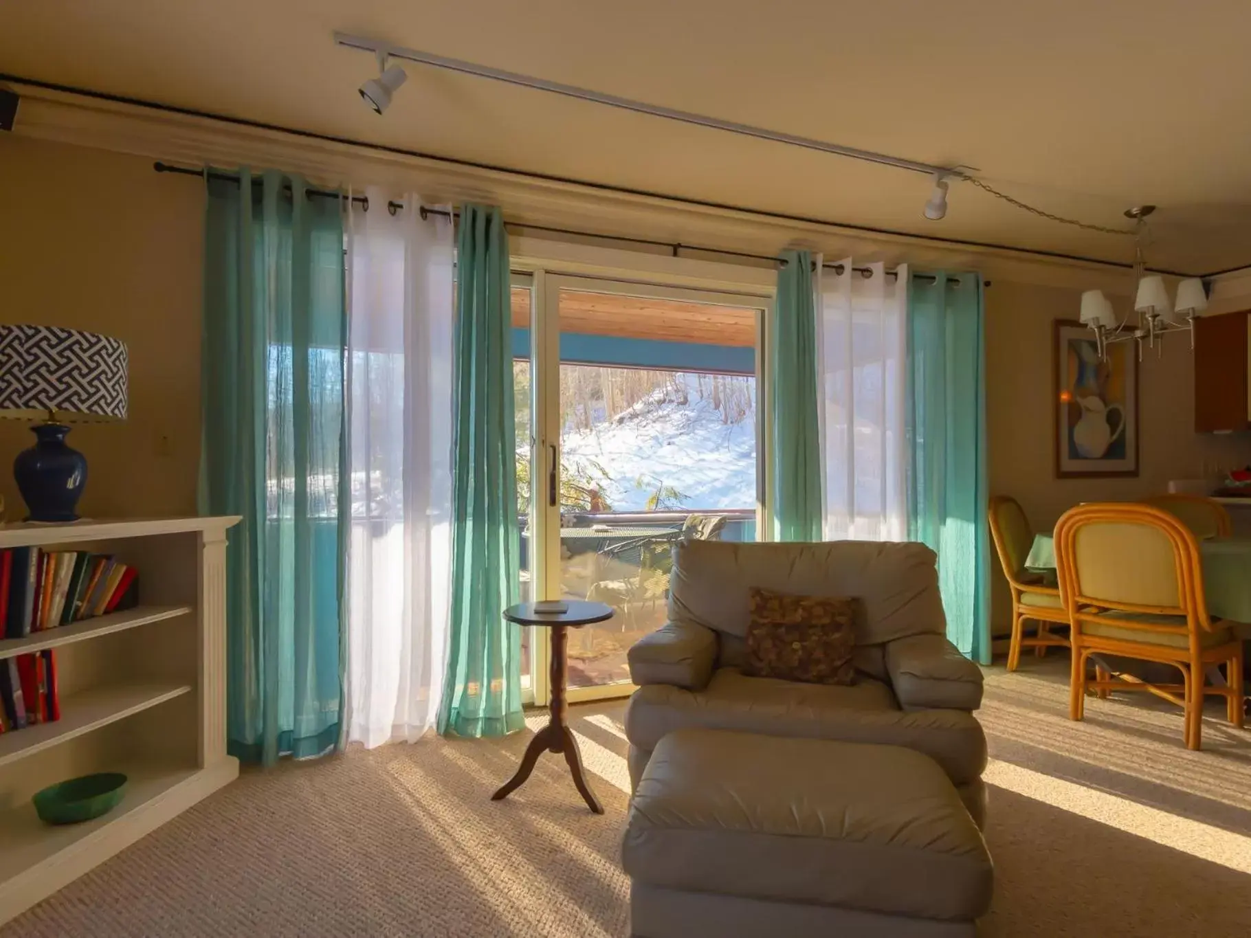
[[[1138,475],[1138,450],[1141,440],[1138,436],[1138,355],[1136,341],[1121,341],[1108,348],[1112,356],[1112,368],[1120,369],[1117,381],[1121,391],[1118,399],[1106,405],[1106,410],[1117,408],[1122,414],[1122,424],[1112,429],[1113,440],[1125,438],[1122,448],[1118,448],[1112,456],[1090,456],[1078,453],[1078,448],[1072,438],[1073,400],[1076,398],[1075,376],[1070,374],[1072,356],[1070,350],[1080,344],[1088,354],[1095,346],[1095,333],[1081,323],[1071,319],[1057,319],[1052,324],[1052,449],[1055,450],[1055,473],[1057,479],[1115,479],[1137,478]],[[1098,395],[1088,395],[1086,399],[1095,399],[1093,408],[1100,410],[1105,406]],[[1123,398],[1123,399],[1122,399]],[[1086,415],[1083,414],[1083,419]],[[1105,420],[1102,413],[1090,416],[1092,421]],[[1110,428],[1111,429],[1111,428]],[[1098,443],[1096,441],[1096,446]],[[1123,449],[1123,453],[1121,451]],[[1100,465],[1102,463],[1102,465]]]

